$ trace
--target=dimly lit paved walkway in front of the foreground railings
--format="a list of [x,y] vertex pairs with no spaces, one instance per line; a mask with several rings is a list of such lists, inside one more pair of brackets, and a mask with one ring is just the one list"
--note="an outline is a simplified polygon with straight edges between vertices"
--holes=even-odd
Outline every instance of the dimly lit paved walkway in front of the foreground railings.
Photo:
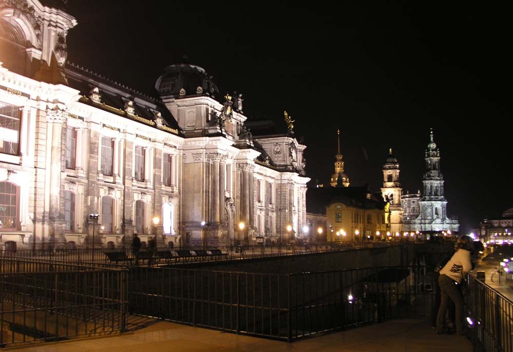
[[437,335],[427,320],[392,320],[293,343],[154,321],[134,333],[19,347],[23,352],[470,352],[462,336]]

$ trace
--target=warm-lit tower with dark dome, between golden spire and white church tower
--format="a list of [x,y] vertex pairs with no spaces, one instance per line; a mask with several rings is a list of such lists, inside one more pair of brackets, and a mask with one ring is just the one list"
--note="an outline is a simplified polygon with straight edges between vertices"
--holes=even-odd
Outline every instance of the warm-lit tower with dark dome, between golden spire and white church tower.
[[401,183],[399,182],[399,162],[392,155],[392,149],[383,164],[383,187],[381,194],[383,199],[389,202],[390,231],[402,231],[403,209],[401,206]]

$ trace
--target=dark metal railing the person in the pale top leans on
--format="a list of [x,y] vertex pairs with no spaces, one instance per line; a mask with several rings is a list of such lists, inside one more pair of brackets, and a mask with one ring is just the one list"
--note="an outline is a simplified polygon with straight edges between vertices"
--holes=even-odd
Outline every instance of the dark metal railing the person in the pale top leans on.
[[513,351],[513,302],[477,278],[468,276],[470,338],[476,350]]

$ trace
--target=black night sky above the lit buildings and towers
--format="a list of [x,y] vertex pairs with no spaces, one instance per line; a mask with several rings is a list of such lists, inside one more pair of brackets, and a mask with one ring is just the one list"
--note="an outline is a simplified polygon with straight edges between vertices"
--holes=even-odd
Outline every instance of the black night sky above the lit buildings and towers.
[[513,206],[511,8],[470,3],[70,0],[68,61],[156,95],[187,55],[221,93],[243,94],[250,119],[287,110],[311,185],[329,184],[340,128],[351,185],[379,191],[392,148],[416,192],[433,128],[466,232]]

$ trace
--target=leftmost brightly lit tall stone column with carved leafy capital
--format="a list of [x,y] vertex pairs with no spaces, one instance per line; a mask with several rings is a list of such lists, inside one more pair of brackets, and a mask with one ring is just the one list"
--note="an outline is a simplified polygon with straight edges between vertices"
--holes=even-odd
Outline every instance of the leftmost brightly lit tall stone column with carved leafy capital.
[[63,153],[63,124],[66,121],[66,112],[55,109],[47,110],[47,123],[51,124],[51,156],[50,156],[50,236],[54,244],[64,242],[64,214],[61,216],[61,170]]

